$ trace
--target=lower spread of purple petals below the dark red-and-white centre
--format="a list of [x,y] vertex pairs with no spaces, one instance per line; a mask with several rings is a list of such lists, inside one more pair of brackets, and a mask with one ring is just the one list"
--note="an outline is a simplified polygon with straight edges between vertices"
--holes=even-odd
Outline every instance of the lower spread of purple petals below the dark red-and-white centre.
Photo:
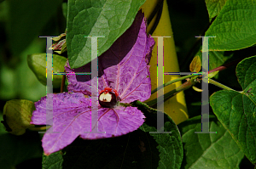
[[[32,124],[53,121],[42,140],[45,155],[63,149],[78,136],[84,139],[116,137],[137,130],[144,122],[145,116],[136,107],[108,109],[99,106],[98,133],[93,133],[96,123],[91,121],[89,98],[85,98],[83,93],[52,93],[49,96],[53,97],[53,109],[47,108],[44,97],[35,104],[36,110],[32,115]],[[47,116],[46,110],[51,110],[52,116]]]

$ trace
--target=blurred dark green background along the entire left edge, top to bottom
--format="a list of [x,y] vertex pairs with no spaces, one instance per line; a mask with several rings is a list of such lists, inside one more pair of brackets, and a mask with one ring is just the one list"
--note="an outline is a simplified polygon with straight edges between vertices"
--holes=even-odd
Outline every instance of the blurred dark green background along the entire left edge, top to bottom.
[[[61,0],[0,1],[0,121],[8,100],[35,102],[46,94],[46,87],[38,82],[26,58],[46,52],[46,38],[39,36],[58,36],[65,29]],[[1,169],[40,168],[43,149],[38,132],[15,136],[1,123],[0,144]]]

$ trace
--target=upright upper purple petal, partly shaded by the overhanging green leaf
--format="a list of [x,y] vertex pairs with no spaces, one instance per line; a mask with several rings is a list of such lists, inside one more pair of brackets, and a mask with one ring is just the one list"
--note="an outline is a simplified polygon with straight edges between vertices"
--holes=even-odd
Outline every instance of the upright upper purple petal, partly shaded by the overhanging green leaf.
[[[145,101],[151,94],[148,62],[154,39],[146,33],[143,13],[139,12],[131,27],[98,59],[98,91],[112,87],[119,93],[121,103]],[[90,72],[90,64],[67,72]],[[96,78],[96,77],[93,77]],[[67,75],[70,92],[90,95],[90,76]]]

